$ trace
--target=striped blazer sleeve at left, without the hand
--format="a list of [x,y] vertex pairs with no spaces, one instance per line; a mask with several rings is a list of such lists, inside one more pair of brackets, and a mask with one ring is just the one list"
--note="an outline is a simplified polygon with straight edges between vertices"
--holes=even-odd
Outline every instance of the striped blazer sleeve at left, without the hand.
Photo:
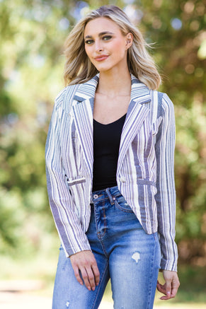
[[[65,88],[66,89],[66,88]],[[55,100],[45,147],[47,192],[52,215],[66,256],[82,250],[91,250],[86,234],[81,228],[79,217],[74,211],[69,187],[65,180],[61,156],[61,132],[64,129],[64,92]]]

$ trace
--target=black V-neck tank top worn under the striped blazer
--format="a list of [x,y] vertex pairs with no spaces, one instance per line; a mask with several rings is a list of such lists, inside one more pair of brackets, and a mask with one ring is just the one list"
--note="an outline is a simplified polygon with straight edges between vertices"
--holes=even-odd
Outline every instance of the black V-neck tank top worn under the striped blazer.
[[120,137],[125,117],[110,124],[93,119],[93,192],[117,185]]

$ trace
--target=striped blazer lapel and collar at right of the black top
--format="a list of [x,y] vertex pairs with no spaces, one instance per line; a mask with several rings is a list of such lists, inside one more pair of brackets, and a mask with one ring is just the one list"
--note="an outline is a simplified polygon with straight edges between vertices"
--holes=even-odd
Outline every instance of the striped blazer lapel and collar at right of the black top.
[[132,92],[131,101],[127,110],[125,124],[122,129],[120,139],[120,151],[118,158],[117,175],[120,172],[123,158],[127,153],[132,140],[135,138],[139,128],[142,126],[144,119],[149,113],[148,104],[151,101],[149,88],[143,83],[140,83],[135,76],[132,76]]

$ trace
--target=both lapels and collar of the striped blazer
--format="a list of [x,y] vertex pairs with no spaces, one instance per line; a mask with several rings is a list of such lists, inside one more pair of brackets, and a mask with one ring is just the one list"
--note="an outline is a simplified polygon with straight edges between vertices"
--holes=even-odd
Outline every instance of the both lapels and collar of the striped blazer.
[[[117,175],[128,147],[149,113],[147,103],[151,100],[149,88],[140,83],[135,76],[131,76],[131,78],[131,100],[122,129]],[[87,83],[80,84],[74,95],[72,107],[74,124],[91,177],[93,174],[93,103],[97,85],[98,75]]]

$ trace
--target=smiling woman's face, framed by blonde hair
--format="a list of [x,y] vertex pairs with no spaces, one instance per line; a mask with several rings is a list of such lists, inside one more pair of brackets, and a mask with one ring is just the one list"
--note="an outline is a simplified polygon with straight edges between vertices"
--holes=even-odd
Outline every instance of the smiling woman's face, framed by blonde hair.
[[89,21],[84,30],[85,51],[98,71],[109,71],[127,66],[127,49],[132,45],[132,34],[122,35],[119,26],[110,18]]

